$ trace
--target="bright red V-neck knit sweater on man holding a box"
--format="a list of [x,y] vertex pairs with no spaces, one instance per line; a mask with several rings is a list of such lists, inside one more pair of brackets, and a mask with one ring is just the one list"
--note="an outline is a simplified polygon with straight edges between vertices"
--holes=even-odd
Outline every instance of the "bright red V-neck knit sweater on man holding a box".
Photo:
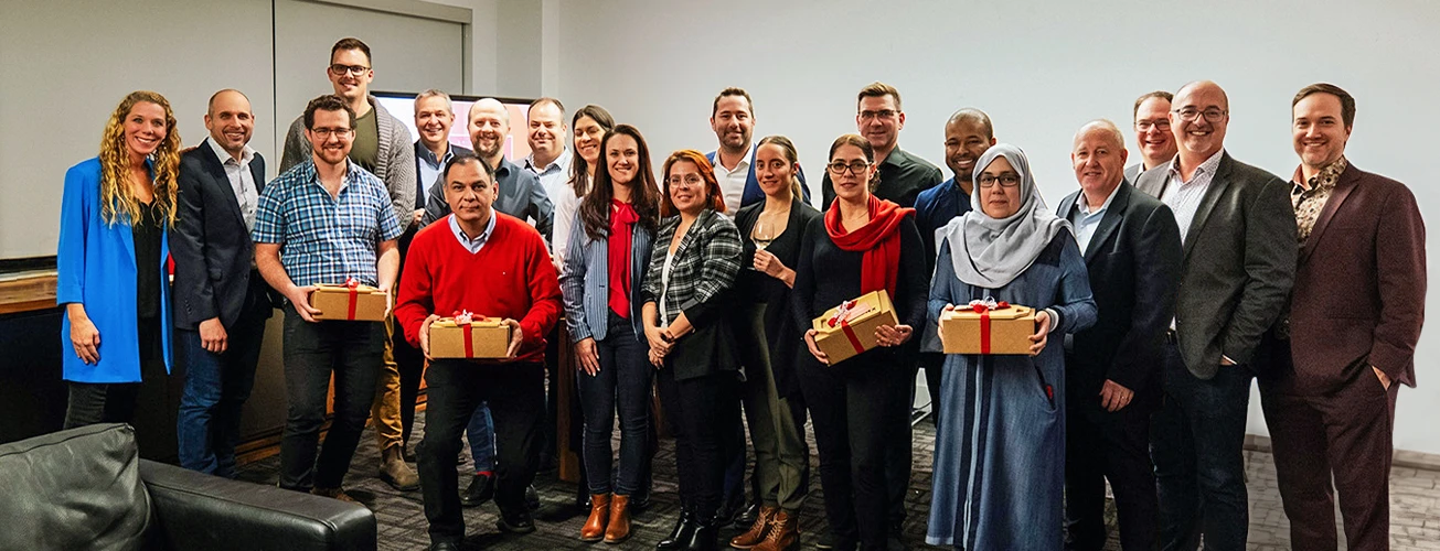
[[[422,229],[410,242],[395,317],[405,340],[420,344],[420,324],[431,314],[469,311],[520,322],[518,360],[543,361],[546,335],[560,319],[560,281],[544,239],[530,224],[492,211],[495,230],[471,253],[451,230],[449,217]],[[454,216],[454,214],[451,214]]]

